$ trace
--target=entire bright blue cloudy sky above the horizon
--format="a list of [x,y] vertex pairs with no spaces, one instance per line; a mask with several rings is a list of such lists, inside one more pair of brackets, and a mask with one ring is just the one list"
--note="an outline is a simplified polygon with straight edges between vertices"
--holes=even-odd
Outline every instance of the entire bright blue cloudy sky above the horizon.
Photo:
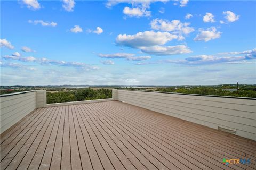
[[256,84],[256,1],[1,1],[1,85]]

